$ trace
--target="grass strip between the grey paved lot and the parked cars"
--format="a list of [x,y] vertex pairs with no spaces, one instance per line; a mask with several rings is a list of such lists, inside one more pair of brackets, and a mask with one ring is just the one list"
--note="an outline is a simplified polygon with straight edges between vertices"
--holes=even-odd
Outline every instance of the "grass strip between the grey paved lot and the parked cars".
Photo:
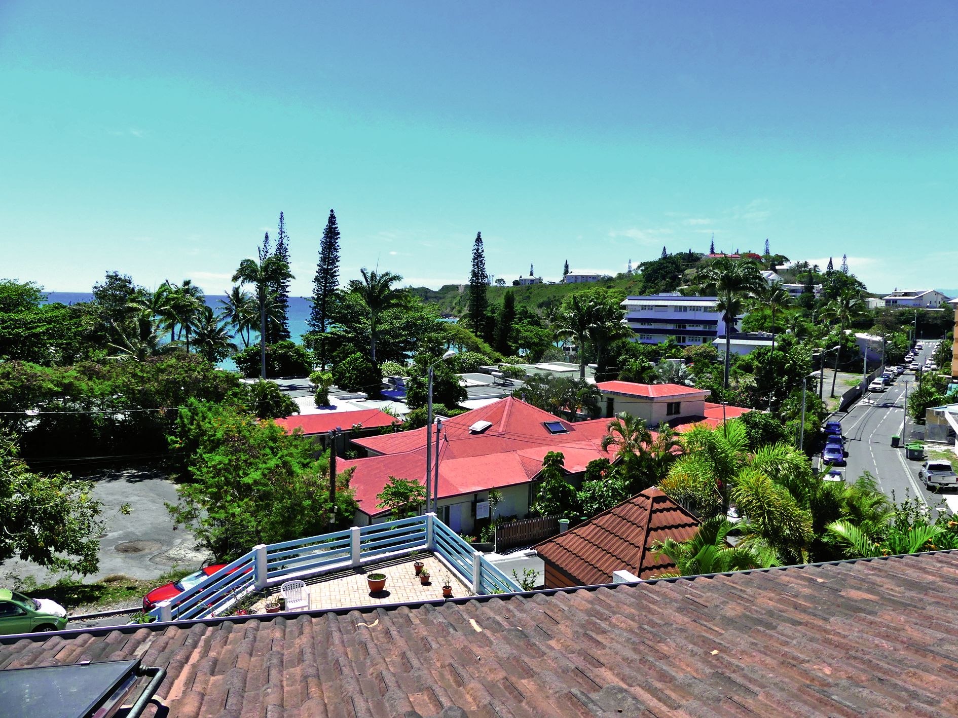
[[150,580],[130,578],[123,573],[112,573],[100,581],[84,583],[77,578],[60,578],[57,583],[38,585],[34,578],[27,578],[15,585],[17,591],[34,598],[50,598],[68,611],[83,607],[102,608],[123,601],[139,603],[144,595],[157,586],[178,580],[192,573],[189,569],[171,568],[163,575]]

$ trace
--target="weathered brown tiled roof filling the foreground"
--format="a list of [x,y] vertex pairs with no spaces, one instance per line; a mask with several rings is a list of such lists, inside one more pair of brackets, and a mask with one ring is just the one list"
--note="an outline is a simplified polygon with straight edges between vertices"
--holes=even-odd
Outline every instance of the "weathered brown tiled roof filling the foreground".
[[[175,718],[954,716],[958,555],[554,595],[0,637],[0,669],[138,657]],[[145,715],[155,716],[155,707]]]

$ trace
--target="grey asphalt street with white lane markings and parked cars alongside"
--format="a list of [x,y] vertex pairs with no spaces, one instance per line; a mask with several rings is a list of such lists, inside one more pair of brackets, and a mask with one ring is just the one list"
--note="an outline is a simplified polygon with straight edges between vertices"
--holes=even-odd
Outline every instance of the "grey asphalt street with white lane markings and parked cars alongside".
[[[917,361],[924,365],[924,360],[931,356],[935,346],[935,342],[924,342],[924,348],[917,354]],[[906,431],[901,431],[906,384],[909,392],[914,390],[913,371],[901,374],[886,392],[866,392],[848,414],[838,415],[849,453],[848,466],[844,469],[845,478],[852,482],[867,471],[878,480],[881,490],[889,498],[894,493],[895,500],[901,502],[907,491],[910,496],[919,497],[929,506],[941,505],[944,499],[947,508],[956,513],[958,495],[934,494],[926,490],[918,480],[921,462],[905,459],[904,449],[895,449],[891,445],[893,435],[901,436],[902,445],[911,436],[911,421]]]

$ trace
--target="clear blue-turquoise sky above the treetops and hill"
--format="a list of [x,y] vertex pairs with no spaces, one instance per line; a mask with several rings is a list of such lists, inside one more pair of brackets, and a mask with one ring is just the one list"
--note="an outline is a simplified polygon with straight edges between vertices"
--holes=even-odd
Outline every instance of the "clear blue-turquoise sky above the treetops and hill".
[[438,287],[472,241],[624,271],[670,252],[848,255],[958,287],[953,2],[0,0],[0,278],[230,286],[285,213],[308,296]]

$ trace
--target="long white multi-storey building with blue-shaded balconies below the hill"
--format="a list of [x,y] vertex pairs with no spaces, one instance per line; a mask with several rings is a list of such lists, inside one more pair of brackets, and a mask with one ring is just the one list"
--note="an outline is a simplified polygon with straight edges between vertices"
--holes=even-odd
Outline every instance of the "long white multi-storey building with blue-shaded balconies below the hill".
[[[634,341],[658,344],[673,337],[677,344],[709,344],[725,336],[725,322],[717,308],[718,297],[683,297],[680,294],[653,294],[628,297],[623,324],[635,332]],[[741,318],[741,315],[737,318]],[[735,327],[732,327],[735,331]]]

